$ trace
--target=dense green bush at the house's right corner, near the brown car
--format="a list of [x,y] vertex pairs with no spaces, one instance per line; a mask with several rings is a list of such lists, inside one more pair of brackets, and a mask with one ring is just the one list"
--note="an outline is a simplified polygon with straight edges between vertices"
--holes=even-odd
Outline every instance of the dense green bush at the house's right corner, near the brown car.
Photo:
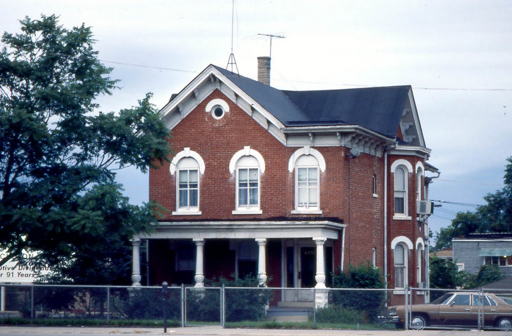
[[[384,288],[380,268],[369,262],[359,266],[349,265],[348,272],[333,275],[333,288]],[[386,295],[383,290],[332,290],[330,303],[354,311],[363,311],[370,321],[374,321],[384,305]]]

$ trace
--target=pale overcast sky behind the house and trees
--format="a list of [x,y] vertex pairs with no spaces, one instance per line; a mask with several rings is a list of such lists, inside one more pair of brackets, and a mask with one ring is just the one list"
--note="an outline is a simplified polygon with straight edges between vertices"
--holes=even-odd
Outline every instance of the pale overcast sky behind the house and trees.
[[[280,89],[413,87],[429,162],[441,176],[430,198],[482,204],[503,186],[512,155],[512,2],[510,1],[7,1],[0,31],[18,20],[60,15],[66,28],[85,23],[99,58],[121,90],[100,100],[119,110],[153,92],[161,108],[208,64],[226,67],[231,46],[241,75],[257,77],[268,56]],[[147,201],[147,176],[118,174],[132,203]],[[443,203],[433,231],[457,211]]]

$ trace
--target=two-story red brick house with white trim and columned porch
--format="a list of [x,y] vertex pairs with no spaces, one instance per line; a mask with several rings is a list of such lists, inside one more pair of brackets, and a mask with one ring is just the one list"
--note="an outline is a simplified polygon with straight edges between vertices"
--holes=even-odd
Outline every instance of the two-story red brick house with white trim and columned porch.
[[254,274],[322,289],[338,267],[370,261],[397,295],[423,286],[416,208],[437,169],[411,86],[282,91],[260,61],[267,83],[209,65],[162,108],[175,155],[150,171],[150,199],[168,212],[133,240],[134,285],[148,239],[151,284]]

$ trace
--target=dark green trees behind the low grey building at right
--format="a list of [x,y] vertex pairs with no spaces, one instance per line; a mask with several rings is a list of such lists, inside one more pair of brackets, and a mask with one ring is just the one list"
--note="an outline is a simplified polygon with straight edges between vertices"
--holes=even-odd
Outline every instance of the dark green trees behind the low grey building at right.
[[452,239],[470,233],[512,232],[512,156],[507,159],[504,187],[484,197],[475,212],[459,212],[449,227],[442,228],[435,250],[452,247]]

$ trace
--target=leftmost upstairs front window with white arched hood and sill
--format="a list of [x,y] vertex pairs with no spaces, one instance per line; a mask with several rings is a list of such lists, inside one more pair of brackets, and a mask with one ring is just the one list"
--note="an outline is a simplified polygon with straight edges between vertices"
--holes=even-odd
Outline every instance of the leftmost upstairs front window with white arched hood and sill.
[[186,147],[170,163],[170,173],[176,176],[176,211],[173,215],[200,215],[199,182],[204,173],[204,161],[197,152]]

